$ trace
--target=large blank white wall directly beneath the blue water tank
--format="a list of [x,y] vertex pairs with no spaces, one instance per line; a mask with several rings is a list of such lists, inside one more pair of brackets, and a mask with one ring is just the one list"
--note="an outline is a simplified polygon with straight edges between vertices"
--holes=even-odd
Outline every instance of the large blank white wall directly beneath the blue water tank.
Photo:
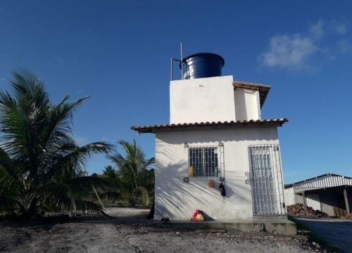
[[170,124],[236,120],[233,77],[170,82]]

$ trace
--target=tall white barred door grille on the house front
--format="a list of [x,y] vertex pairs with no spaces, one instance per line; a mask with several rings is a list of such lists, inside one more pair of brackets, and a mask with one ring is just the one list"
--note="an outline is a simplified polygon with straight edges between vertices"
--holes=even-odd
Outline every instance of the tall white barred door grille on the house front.
[[254,215],[285,214],[279,145],[249,145]]

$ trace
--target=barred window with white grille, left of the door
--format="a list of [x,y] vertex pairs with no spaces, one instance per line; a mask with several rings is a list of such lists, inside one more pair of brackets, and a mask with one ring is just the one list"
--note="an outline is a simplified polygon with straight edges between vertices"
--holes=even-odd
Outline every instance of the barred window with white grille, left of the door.
[[189,147],[189,167],[193,167],[194,178],[218,179],[224,177],[223,147]]

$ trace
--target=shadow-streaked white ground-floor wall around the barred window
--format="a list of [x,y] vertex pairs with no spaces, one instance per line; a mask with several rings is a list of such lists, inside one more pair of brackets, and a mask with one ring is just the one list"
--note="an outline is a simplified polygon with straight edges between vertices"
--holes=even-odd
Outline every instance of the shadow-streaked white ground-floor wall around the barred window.
[[[208,179],[183,181],[189,167],[184,143],[202,146],[218,145],[220,141],[224,143],[225,198],[218,191],[218,181],[214,189],[208,188]],[[276,127],[158,132],[154,219],[189,220],[195,209],[217,220],[251,219],[251,186],[246,182],[248,145],[277,143]]]

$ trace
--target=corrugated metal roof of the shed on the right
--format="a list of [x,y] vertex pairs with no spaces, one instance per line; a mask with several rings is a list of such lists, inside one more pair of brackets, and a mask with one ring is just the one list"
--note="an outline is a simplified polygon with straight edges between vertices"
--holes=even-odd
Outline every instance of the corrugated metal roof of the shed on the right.
[[337,186],[352,186],[352,178],[337,174],[323,174],[312,179],[291,183],[285,186],[285,188],[293,187],[294,189],[317,189]]

